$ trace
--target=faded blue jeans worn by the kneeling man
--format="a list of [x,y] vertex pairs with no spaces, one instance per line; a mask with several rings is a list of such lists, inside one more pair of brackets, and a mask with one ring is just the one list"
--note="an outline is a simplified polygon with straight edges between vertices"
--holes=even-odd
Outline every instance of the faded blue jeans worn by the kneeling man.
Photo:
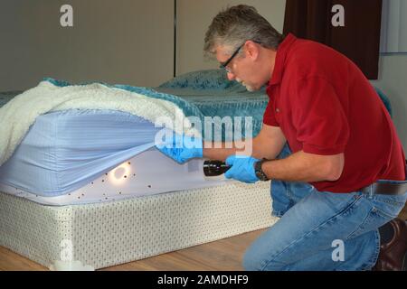
[[[279,157],[288,154],[286,144]],[[248,248],[246,270],[355,271],[375,265],[378,228],[398,216],[407,192],[332,193],[308,183],[272,181],[271,198],[273,215],[281,218]]]

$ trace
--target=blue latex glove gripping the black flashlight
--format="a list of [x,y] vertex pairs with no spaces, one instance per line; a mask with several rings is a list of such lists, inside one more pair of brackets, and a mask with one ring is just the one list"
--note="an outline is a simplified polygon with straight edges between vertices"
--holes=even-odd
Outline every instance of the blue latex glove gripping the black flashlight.
[[226,164],[232,165],[232,167],[224,173],[224,176],[227,179],[235,179],[241,182],[257,182],[259,178],[254,172],[254,163],[258,161],[258,159],[251,156],[231,155],[226,159]]

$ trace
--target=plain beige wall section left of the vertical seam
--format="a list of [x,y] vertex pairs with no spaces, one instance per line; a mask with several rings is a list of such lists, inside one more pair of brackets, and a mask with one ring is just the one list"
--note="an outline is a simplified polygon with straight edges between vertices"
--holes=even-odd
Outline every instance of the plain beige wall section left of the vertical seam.
[[[64,4],[73,27],[60,24]],[[2,0],[0,91],[43,77],[156,86],[173,76],[173,31],[168,0]]]

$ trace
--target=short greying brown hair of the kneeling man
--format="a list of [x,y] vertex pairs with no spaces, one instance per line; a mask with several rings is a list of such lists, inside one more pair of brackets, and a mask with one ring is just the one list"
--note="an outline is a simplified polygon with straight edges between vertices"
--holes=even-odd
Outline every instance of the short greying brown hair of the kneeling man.
[[230,47],[231,53],[243,42],[260,42],[277,51],[283,36],[253,6],[236,5],[217,14],[204,39],[204,53],[211,56],[217,45]]

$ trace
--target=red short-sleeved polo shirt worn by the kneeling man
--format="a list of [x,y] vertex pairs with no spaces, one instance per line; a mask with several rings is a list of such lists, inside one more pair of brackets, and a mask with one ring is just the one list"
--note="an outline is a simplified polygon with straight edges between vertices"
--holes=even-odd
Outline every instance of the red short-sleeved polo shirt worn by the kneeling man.
[[390,115],[341,53],[289,34],[279,45],[267,94],[263,122],[281,128],[293,153],[345,154],[337,181],[311,182],[318,191],[405,180],[405,156]]

